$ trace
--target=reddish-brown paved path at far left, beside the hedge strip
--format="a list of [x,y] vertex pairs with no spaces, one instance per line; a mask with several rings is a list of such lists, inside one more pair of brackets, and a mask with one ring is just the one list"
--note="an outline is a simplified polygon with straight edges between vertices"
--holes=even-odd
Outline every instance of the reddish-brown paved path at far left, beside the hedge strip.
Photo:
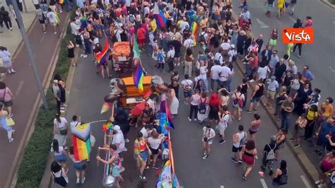
[[[59,25],[60,30],[63,30],[65,27],[66,21],[64,20],[67,15],[68,13],[65,12],[60,15],[60,19],[62,20]],[[16,27],[16,23],[13,23],[13,25]],[[32,30],[28,37],[37,64],[37,71],[43,82],[43,80],[49,76],[47,70],[52,64],[52,56],[56,50],[55,45],[60,38],[58,37],[59,35],[54,35],[50,25],[47,26],[47,33],[45,34],[42,33],[40,23],[37,21],[31,27]],[[14,114],[13,119],[16,122],[14,127],[16,132],[14,141],[8,143],[6,131],[3,129],[0,131],[0,169],[6,169],[0,171],[0,187],[5,187],[6,181],[11,181],[9,179],[12,177],[8,176],[13,168],[13,163],[16,163],[14,160],[18,153],[18,147],[22,140],[23,133],[30,131],[28,119],[30,118],[32,108],[37,100],[37,94],[39,93],[25,47],[21,48],[16,59],[13,59],[13,67],[16,69],[16,74],[7,74],[4,82],[7,87],[11,89],[13,97],[15,98],[13,100],[14,105],[12,109]]]

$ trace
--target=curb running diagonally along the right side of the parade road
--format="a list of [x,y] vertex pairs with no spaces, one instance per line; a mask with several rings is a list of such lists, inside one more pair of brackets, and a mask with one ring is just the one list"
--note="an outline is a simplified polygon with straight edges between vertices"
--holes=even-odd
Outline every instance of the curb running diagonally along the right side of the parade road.
[[[234,20],[238,20],[237,14],[235,12],[232,13],[232,18]],[[252,37],[254,37],[253,33],[252,33]],[[244,68],[242,67],[240,62],[241,62],[240,59],[237,59],[236,65],[237,65],[238,69],[240,70],[240,73],[242,73],[242,75],[244,76],[244,74],[243,74]],[[250,88],[254,88],[254,86],[252,84],[249,84],[249,86],[250,86]],[[274,124],[274,126],[277,129],[280,129],[281,125],[278,124],[278,122],[276,121],[276,117],[274,117],[273,113],[267,107],[264,106],[265,103],[266,102],[264,102],[264,98],[261,98],[261,105],[260,106],[263,107],[264,110],[266,111],[266,113],[269,115],[269,117],[270,117],[272,123]],[[286,134],[286,137],[293,137],[293,135],[290,132],[288,132]],[[293,143],[290,142],[290,141],[286,141],[285,143],[288,146],[288,148],[290,148],[290,151],[293,153],[295,158],[298,160],[299,165],[301,166],[302,170],[304,170],[305,174],[310,179],[310,182],[313,185],[313,182],[319,180],[319,173],[317,172],[317,169],[312,164],[310,159],[307,158],[307,155],[305,154],[305,151],[302,150],[302,148],[294,148]]]

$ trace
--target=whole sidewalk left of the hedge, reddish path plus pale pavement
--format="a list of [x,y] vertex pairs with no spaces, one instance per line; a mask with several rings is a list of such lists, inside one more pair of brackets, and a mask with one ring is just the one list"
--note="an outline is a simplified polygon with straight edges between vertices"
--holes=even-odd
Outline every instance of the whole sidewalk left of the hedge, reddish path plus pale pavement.
[[[4,0],[1,0],[4,1]],[[31,4],[31,1],[26,1],[27,8]],[[1,4],[1,6],[6,6],[6,4]],[[28,10],[33,10],[28,8]],[[30,15],[30,23],[33,21],[33,16],[35,12],[28,13]],[[23,18],[29,18],[29,16],[24,15]],[[69,13],[60,14],[61,23],[59,29],[63,32],[66,23],[69,21]],[[28,20],[25,20],[28,22]],[[25,25],[28,27],[28,25]],[[16,21],[13,21],[13,32],[18,32]],[[31,42],[31,47],[34,52],[35,61],[37,64],[37,71],[41,78],[43,86],[47,86],[49,83],[49,76],[52,76],[52,71],[54,69],[54,64],[57,59],[57,52],[60,44],[61,38],[59,35],[54,35],[52,28],[47,27],[47,33],[42,33],[40,24],[34,22],[28,32],[28,37]],[[8,35],[7,37],[4,37]],[[10,36],[9,36],[10,35]],[[4,33],[0,34],[1,42],[0,45],[11,45],[6,46],[13,54],[18,47],[21,39],[20,33],[9,33],[8,30],[4,30]],[[13,42],[13,40],[15,40]],[[8,143],[6,136],[6,131],[0,131],[0,148],[3,152],[0,153],[0,187],[11,187],[16,170],[18,168],[18,163],[23,153],[23,148],[25,148],[25,143],[27,143],[28,136],[30,132],[33,131],[33,123],[35,121],[35,114],[37,114],[37,107],[40,105],[40,94],[37,90],[35,79],[33,76],[33,69],[28,61],[27,53],[25,47],[19,48],[16,52],[16,59],[13,59],[13,65],[16,69],[16,74],[7,75],[5,83],[8,88],[11,89],[14,95],[14,105],[13,105],[13,119],[16,122],[16,134],[14,136],[14,141]],[[6,152],[4,152],[6,151]]]

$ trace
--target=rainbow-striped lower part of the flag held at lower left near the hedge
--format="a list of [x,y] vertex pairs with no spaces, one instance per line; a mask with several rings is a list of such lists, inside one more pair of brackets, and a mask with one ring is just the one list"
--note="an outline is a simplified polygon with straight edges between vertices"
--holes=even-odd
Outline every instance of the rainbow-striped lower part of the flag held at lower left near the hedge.
[[90,136],[86,141],[83,141],[72,135],[72,143],[74,144],[74,159],[79,161],[88,159],[88,155],[90,155]]

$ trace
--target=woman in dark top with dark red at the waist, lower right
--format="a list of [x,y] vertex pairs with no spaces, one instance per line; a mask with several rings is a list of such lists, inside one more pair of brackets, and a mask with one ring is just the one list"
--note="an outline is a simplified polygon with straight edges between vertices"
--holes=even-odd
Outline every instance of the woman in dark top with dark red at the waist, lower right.
[[254,160],[258,159],[257,157],[257,149],[254,144],[254,141],[249,140],[245,143],[245,146],[242,147],[242,160],[245,162],[243,166],[243,180],[247,180],[249,173],[252,171],[254,167]]

